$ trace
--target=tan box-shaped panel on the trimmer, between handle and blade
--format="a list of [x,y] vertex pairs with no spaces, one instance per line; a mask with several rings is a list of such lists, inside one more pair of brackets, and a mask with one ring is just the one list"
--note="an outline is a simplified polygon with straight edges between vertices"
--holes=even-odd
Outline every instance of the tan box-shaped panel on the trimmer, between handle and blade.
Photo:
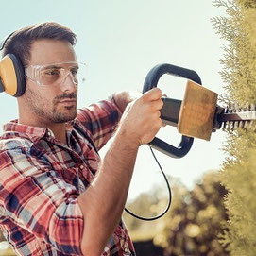
[[217,95],[196,82],[188,80],[179,111],[179,133],[210,141]]

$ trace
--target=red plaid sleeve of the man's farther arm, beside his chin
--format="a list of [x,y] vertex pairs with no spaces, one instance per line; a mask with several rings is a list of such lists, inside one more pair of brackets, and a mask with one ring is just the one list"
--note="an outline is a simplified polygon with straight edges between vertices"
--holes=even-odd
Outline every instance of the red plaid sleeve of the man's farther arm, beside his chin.
[[113,96],[109,100],[77,110],[77,119],[91,133],[97,150],[109,141],[121,115]]

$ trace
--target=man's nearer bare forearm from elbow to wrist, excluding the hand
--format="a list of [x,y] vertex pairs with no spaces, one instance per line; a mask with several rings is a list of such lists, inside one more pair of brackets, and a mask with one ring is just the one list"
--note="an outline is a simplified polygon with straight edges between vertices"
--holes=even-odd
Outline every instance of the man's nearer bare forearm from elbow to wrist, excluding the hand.
[[97,177],[78,197],[85,223],[81,247],[86,255],[101,254],[125,207],[138,146],[129,146],[123,138],[117,131]]

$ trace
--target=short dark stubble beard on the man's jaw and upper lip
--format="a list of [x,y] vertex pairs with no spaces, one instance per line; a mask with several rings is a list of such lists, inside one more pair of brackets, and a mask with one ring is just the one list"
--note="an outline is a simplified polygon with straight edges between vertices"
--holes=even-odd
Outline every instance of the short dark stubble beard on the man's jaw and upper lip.
[[[47,123],[66,123],[74,120],[77,116],[77,94],[62,94],[55,97],[52,102],[42,94],[35,94],[30,88],[26,88],[26,102],[31,111],[37,114],[40,119]],[[76,100],[72,106],[60,106],[60,100]]]

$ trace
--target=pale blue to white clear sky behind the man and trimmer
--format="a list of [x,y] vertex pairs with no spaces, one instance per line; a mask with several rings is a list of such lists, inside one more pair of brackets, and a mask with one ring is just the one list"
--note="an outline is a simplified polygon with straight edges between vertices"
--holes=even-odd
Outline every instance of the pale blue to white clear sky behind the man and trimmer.
[[[195,70],[204,87],[223,94],[219,76],[223,45],[213,30],[211,18],[224,15],[211,0],[24,0],[5,1],[0,16],[0,38],[23,26],[55,21],[77,34],[77,59],[87,64],[87,81],[79,87],[78,107],[106,99],[122,90],[142,91],[148,71],[159,63]],[[186,80],[164,75],[163,94],[182,99]],[[18,116],[16,99],[0,94],[2,125]],[[179,145],[176,128],[158,134],[167,143]],[[221,167],[225,134],[217,131],[210,142],[195,139],[181,159],[156,152],[166,174],[188,188],[203,173]],[[108,145],[100,152],[102,156]],[[118,156],[117,156],[118,157]],[[163,179],[147,145],[141,146],[128,198],[152,190]]]

